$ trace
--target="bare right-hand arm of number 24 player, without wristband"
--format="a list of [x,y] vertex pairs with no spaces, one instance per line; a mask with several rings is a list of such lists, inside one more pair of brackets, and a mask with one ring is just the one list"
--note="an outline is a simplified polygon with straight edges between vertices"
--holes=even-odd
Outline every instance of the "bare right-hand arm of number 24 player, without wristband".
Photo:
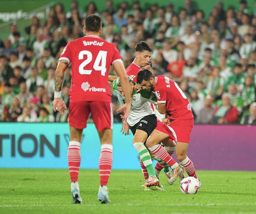
[[120,81],[121,81],[121,86],[124,92],[124,96],[125,96],[125,104],[119,108],[117,111],[124,111],[124,116],[121,116],[121,118],[127,118],[130,110],[131,110],[131,92],[130,92],[130,84],[127,78],[127,74],[125,72],[125,68],[124,68],[124,64],[123,62],[114,62],[113,63],[113,68],[115,69],[115,72],[117,73],[117,75],[120,77]]

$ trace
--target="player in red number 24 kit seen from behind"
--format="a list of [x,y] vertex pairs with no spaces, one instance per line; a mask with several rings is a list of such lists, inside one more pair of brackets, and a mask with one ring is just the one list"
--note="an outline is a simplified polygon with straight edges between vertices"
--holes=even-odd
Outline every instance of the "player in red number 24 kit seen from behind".
[[123,85],[126,103],[118,110],[125,112],[122,118],[129,115],[131,108],[130,85],[117,48],[114,44],[99,38],[102,33],[102,20],[98,15],[92,14],[86,17],[84,33],[86,34],[85,37],[69,42],[60,56],[55,72],[53,109],[62,115],[67,109],[61,99],[61,85],[64,71],[72,63],[72,85],[69,91],[70,142],[68,147],[72,200],[74,203],[82,203],[77,182],[81,161],[80,146],[82,132],[86,128],[86,121],[91,113],[101,142],[98,200],[101,203],[109,203],[106,185],[113,162],[113,113],[108,84],[110,65],[120,76]]

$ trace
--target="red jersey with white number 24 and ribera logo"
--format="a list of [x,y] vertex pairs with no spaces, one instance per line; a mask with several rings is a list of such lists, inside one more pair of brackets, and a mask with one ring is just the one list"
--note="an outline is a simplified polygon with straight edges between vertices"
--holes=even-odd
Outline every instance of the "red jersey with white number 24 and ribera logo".
[[70,102],[102,101],[111,103],[108,84],[110,65],[122,62],[113,43],[96,36],[85,36],[69,42],[59,60],[72,63]]

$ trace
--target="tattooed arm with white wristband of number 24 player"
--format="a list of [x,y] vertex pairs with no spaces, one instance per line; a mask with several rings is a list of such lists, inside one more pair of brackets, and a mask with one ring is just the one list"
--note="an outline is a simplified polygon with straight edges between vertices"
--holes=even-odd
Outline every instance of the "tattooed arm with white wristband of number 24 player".
[[55,71],[55,91],[54,91],[54,101],[53,101],[53,110],[59,111],[61,115],[64,115],[67,106],[64,101],[61,99],[61,86],[64,78],[64,71],[68,67],[68,62],[66,60],[60,60]]

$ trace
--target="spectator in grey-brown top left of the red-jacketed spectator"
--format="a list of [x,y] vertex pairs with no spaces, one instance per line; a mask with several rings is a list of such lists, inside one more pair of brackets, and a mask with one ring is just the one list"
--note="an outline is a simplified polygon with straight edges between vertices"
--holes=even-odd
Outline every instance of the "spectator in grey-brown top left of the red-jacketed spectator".
[[196,123],[210,123],[212,120],[214,108],[212,106],[213,98],[207,95],[204,101],[204,107],[198,112]]

